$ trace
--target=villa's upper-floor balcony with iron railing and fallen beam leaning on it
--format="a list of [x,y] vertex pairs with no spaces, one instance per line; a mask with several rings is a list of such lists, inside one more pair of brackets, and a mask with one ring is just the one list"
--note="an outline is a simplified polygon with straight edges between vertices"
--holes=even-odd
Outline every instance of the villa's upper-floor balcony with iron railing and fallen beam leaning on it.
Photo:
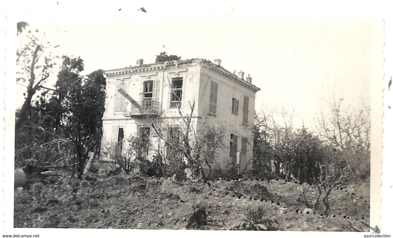
[[161,103],[152,101],[152,100],[144,100],[136,102],[141,106],[141,109],[138,109],[132,103],[126,103],[126,117],[145,117],[145,116],[158,116],[161,114]]

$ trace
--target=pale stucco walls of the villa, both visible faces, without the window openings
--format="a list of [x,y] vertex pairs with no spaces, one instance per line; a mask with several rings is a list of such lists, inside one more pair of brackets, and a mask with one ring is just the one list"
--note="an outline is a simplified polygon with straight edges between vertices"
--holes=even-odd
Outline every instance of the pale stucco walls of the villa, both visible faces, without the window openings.
[[[178,108],[170,107],[171,88],[169,82],[172,78],[182,77],[183,93],[181,112],[183,115],[189,115],[191,113],[190,104],[192,105],[195,102],[192,119],[193,127],[200,128],[203,118],[206,118],[208,123],[224,123],[226,125],[227,130],[225,132],[224,142],[226,147],[216,153],[215,163],[211,163],[212,167],[220,166],[223,170],[230,170],[233,167],[229,148],[230,134],[239,136],[237,146],[239,152],[241,150],[241,137],[248,138],[247,156],[242,157],[241,170],[244,170],[248,160],[252,158],[252,125],[255,112],[255,92],[249,87],[237,82],[237,79],[230,79],[226,75],[217,72],[217,70],[212,70],[211,65],[206,67],[202,64],[201,66],[198,62],[171,66],[152,64],[146,67],[124,68],[107,71],[107,75],[107,100],[105,102],[106,110],[103,116],[102,148],[107,148],[111,143],[113,144],[113,142],[117,141],[117,137],[113,132],[114,128],[124,128],[124,136],[127,138],[129,135],[137,132],[140,124],[145,123],[146,126],[150,126],[149,122],[143,118],[126,117],[124,112],[115,112],[115,97],[119,93],[116,90],[116,82],[128,83],[128,86],[124,90],[134,100],[140,101],[143,82],[149,80],[160,81],[158,98],[161,103],[161,110],[163,111],[163,122],[164,124],[178,124],[181,117]],[[215,116],[208,114],[211,81],[217,82],[218,84],[217,113]],[[248,125],[242,124],[244,95],[249,97]],[[238,115],[231,113],[232,98],[239,100]],[[127,110],[130,109],[130,106],[130,103],[128,103]],[[158,141],[153,128],[151,128],[150,133],[152,141]],[[105,158],[104,153],[101,154],[103,155],[101,159],[109,159],[108,157]],[[249,168],[251,168],[251,164],[249,164]]]

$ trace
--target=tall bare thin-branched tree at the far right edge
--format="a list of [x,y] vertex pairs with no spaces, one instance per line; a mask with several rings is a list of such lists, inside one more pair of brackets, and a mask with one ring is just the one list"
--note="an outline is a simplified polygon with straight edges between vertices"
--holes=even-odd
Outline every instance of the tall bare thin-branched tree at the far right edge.
[[321,112],[318,134],[333,146],[348,167],[352,178],[369,178],[371,116],[367,103],[362,108],[344,109],[343,98],[327,102],[328,113]]

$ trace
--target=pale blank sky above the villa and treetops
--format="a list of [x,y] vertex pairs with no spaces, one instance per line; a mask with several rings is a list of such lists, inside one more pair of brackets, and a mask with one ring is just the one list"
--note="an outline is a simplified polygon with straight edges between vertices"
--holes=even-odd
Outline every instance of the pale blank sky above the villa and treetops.
[[293,108],[298,126],[302,119],[312,126],[323,99],[333,94],[346,106],[369,103],[375,63],[382,67],[377,20],[246,16],[231,7],[199,15],[137,9],[72,17],[62,11],[49,18],[25,12],[17,20],[45,31],[45,41],[60,44],[59,55],[80,56],[84,74],[134,66],[137,59],[154,63],[162,51],[182,59],[221,59],[226,70],[250,74],[261,88],[257,111],[263,104]]

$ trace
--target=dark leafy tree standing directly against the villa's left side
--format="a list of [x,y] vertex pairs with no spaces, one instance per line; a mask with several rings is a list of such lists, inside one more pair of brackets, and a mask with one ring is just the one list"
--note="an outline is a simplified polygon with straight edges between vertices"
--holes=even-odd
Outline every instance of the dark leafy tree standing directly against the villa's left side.
[[93,158],[99,154],[105,111],[104,71],[97,70],[86,77],[80,75],[81,71],[82,59],[64,56],[54,97],[46,106],[55,130],[73,142],[73,173],[78,178],[83,175],[89,152],[94,152]]

